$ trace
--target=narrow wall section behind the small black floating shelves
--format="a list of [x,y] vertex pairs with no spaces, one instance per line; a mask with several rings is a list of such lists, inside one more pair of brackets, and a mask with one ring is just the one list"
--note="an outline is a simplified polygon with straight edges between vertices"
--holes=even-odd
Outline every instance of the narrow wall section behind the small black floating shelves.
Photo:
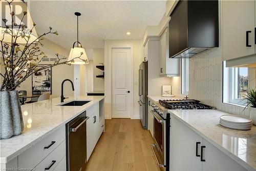
[[104,91],[104,79],[96,78],[96,75],[103,74],[102,70],[96,68],[99,62],[104,64],[104,48],[93,49],[93,90]]

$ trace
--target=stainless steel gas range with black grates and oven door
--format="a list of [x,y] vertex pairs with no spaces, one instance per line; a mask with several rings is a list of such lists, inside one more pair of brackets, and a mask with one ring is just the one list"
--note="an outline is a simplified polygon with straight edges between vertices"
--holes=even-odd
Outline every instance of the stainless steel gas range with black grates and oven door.
[[154,144],[151,144],[158,166],[161,170],[169,171],[170,168],[170,113],[168,109],[216,109],[198,100],[159,100],[159,103],[150,101],[151,110],[154,116],[153,136]]

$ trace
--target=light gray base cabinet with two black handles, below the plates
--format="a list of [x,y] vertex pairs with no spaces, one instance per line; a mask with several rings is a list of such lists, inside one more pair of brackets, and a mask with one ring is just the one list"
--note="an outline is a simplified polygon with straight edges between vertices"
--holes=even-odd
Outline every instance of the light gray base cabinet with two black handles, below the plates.
[[242,171],[247,169],[171,115],[170,170]]

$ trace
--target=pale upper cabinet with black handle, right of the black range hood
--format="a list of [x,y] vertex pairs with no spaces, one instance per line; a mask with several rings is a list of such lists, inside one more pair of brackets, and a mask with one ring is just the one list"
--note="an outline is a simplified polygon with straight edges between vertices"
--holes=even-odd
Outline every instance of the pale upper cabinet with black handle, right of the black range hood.
[[221,3],[223,60],[255,54],[255,1]]

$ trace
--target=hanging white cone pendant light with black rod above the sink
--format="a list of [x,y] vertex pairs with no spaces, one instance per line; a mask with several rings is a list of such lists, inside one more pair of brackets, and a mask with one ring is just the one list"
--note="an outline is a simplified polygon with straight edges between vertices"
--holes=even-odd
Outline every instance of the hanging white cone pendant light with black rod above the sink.
[[[80,16],[81,13],[75,12],[75,15],[77,16],[77,41],[74,42],[73,47],[70,50],[68,61],[73,60],[73,62],[71,62],[70,64],[89,64],[86,51],[82,48],[81,43],[78,41],[78,16]],[[80,58],[78,58],[79,56]]]

